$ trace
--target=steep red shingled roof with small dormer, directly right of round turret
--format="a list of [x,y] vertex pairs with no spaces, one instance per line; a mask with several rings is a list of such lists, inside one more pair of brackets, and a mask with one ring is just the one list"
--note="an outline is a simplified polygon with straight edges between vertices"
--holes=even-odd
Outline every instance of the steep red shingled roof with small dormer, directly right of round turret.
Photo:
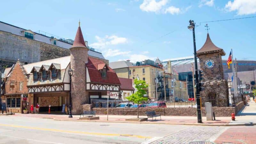
[[108,68],[107,77],[102,78],[99,69],[99,65],[101,66],[102,64],[106,63],[98,58],[88,57],[88,63],[86,63],[86,67],[88,68],[91,82],[104,84],[121,84],[116,75],[116,72],[108,67],[108,65],[106,65],[106,67]]

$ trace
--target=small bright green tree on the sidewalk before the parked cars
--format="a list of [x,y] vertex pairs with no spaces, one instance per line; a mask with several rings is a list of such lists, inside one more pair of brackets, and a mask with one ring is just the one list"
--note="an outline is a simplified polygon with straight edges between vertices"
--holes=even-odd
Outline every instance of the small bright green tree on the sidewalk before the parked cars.
[[127,100],[133,101],[138,105],[138,118],[139,118],[139,104],[141,104],[143,101],[147,101],[148,98],[144,97],[145,94],[147,94],[147,88],[148,84],[146,84],[143,80],[134,79],[135,88],[137,91],[130,95],[129,97],[126,97]]

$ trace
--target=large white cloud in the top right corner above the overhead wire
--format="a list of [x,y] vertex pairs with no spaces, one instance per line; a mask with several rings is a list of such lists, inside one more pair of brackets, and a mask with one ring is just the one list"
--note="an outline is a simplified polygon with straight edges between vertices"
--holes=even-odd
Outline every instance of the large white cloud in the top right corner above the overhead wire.
[[256,0],[234,0],[225,5],[228,12],[237,11],[237,15],[256,13]]

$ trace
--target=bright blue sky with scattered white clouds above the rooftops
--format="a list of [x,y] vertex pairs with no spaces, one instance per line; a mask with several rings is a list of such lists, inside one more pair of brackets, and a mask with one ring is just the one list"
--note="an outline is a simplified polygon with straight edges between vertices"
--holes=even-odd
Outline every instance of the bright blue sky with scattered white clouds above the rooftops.
[[[88,45],[112,61],[193,56],[207,35],[205,21],[256,16],[256,0],[1,1],[0,21],[75,39],[78,21]],[[256,60],[255,18],[208,22],[212,42],[239,60]]]

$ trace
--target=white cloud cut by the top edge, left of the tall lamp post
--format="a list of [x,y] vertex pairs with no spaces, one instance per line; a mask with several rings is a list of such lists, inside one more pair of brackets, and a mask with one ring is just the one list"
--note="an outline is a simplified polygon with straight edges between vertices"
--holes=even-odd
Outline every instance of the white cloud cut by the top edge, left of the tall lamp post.
[[160,0],[156,2],[156,0],[144,0],[142,4],[140,4],[140,9],[145,12],[159,12],[164,5],[167,4],[167,0]]

